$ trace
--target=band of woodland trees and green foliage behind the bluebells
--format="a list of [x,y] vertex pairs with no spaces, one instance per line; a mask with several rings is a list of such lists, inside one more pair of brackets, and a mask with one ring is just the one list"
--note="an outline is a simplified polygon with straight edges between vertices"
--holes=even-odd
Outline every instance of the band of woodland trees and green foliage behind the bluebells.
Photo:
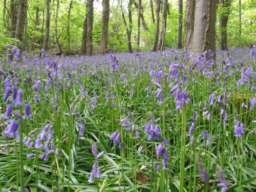
[[[251,17],[242,13],[255,9],[253,0],[242,3],[241,0],[177,0],[176,3],[168,0],[101,0],[98,5],[101,3],[102,11],[95,11],[94,3],[94,0],[4,0],[0,23],[3,31],[0,34],[5,41],[16,39],[15,46],[22,51],[49,51],[51,48],[60,54],[74,53],[72,39],[79,38],[76,47],[80,41],[81,55],[92,55],[95,45],[98,52],[105,54],[113,48],[113,42],[117,47],[124,47],[126,42],[129,52],[140,51],[143,47],[162,51],[171,46],[166,45],[170,33],[175,33],[178,49],[195,55],[206,50],[215,52],[216,42],[221,50],[227,50],[230,16],[232,19],[238,16],[237,45],[243,43],[242,18],[247,19],[248,36],[255,35],[255,13]],[[234,11],[231,15],[233,4],[238,5],[237,16]],[[174,19],[178,20],[175,32],[166,31]],[[173,38],[172,42],[174,46]]]

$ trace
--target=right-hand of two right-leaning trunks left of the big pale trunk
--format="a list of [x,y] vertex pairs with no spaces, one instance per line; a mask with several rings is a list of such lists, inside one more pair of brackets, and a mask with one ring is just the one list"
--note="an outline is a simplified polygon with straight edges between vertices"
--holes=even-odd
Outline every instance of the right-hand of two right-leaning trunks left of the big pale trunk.
[[157,50],[162,51],[164,49],[164,38],[165,38],[165,29],[166,29],[166,16],[167,16],[167,3],[168,0],[163,0],[162,6],[162,25],[161,25],[161,32],[160,37],[158,40]]

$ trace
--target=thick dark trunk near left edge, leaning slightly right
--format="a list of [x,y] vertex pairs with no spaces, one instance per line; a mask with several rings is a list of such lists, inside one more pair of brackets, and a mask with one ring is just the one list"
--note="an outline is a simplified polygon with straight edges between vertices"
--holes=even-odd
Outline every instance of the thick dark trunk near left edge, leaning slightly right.
[[23,42],[23,29],[25,26],[25,13],[26,13],[26,0],[19,0],[18,1],[18,11],[17,11],[17,19],[16,19],[16,29],[15,29],[15,38],[16,46],[19,49],[22,49],[20,42]]

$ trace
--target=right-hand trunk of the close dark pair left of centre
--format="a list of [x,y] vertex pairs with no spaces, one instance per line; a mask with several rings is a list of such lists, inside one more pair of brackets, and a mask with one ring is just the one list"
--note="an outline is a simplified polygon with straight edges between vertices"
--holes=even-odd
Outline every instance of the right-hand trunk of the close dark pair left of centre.
[[87,38],[86,38],[86,54],[93,54],[93,0],[88,0],[87,3]]

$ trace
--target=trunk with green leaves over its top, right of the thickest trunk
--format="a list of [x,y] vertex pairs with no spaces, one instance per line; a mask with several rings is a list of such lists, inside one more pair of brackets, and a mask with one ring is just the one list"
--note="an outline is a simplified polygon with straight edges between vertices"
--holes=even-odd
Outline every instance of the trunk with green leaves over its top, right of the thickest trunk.
[[227,21],[230,13],[231,0],[220,0],[220,31],[221,50],[227,50]]

